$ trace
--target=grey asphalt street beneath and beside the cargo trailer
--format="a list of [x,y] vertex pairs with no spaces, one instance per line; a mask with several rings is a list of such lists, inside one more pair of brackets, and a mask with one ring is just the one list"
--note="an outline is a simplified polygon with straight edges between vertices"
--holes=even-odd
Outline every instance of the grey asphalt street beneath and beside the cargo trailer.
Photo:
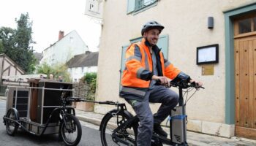
[[[44,135],[37,137],[32,134],[26,133],[25,131],[18,130],[15,137],[10,137],[7,134],[2,118],[5,113],[6,101],[0,99],[0,145],[11,145],[11,146],[26,146],[26,145],[64,145],[64,142],[58,142],[58,134]],[[91,123],[85,123],[80,121],[83,128],[82,139],[79,143],[80,146],[95,146],[101,145],[99,137],[99,127],[94,126]]]

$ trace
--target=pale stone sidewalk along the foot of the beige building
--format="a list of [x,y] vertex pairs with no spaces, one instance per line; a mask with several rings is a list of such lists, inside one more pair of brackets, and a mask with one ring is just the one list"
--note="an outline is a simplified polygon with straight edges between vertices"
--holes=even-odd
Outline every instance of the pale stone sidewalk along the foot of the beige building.
[[[76,110],[76,117],[79,120],[93,123],[99,126],[104,115],[95,112],[83,112]],[[165,128],[168,133],[168,128]],[[232,137],[231,139],[223,137],[214,137],[207,134],[198,134],[192,131],[187,131],[187,142],[189,146],[256,146],[256,140],[244,139],[240,137]]]

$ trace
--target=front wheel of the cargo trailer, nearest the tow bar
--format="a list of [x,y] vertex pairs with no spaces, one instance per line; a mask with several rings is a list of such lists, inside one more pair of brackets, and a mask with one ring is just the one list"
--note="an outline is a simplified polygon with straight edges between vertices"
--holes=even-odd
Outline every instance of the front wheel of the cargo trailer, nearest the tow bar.
[[78,118],[74,115],[67,115],[65,117],[66,123],[61,123],[61,138],[66,145],[78,145],[82,137],[82,128]]

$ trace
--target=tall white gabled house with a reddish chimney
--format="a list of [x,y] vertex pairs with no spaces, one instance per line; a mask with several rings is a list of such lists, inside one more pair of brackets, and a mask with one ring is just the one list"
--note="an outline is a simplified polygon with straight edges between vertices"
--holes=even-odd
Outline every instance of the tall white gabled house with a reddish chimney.
[[77,31],[71,31],[65,36],[64,31],[59,31],[59,40],[42,51],[40,64],[65,64],[74,55],[85,53],[86,50],[89,48]]

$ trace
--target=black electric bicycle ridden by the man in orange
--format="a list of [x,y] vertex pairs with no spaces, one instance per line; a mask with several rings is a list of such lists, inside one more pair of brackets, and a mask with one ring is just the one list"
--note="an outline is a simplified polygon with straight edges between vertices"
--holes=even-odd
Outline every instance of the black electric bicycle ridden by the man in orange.
[[[170,122],[170,139],[161,137],[153,132],[151,145],[162,146],[166,145],[188,145],[187,144],[187,115],[185,107],[187,101],[195,94],[195,92],[189,98],[186,98],[184,103],[184,96],[192,88],[196,91],[199,88],[195,82],[188,83],[185,80],[177,82],[171,81],[170,87],[178,88],[179,99],[178,106],[170,111],[168,121]],[[170,88],[169,87],[169,88]],[[185,94],[183,95],[183,90]],[[188,95],[188,94],[187,94]],[[137,115],[133,116],[124,103],[109,102],[110,105],[116,105],[116,109],[110,110],[100,124],[100,137],[102,146],[110,145],[136,145],[136,139],[138,134],[139,119]]]

